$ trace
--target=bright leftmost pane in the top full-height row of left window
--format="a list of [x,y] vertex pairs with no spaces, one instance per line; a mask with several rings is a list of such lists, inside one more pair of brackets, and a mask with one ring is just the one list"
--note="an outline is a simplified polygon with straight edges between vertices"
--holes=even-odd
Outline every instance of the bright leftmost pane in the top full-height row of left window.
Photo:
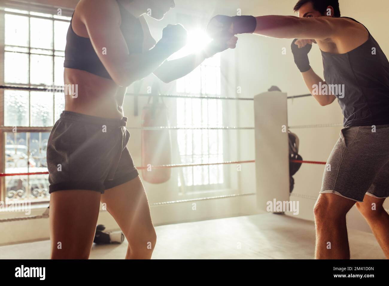
[[28,47],[28,17],[5,14],[5,44]]

